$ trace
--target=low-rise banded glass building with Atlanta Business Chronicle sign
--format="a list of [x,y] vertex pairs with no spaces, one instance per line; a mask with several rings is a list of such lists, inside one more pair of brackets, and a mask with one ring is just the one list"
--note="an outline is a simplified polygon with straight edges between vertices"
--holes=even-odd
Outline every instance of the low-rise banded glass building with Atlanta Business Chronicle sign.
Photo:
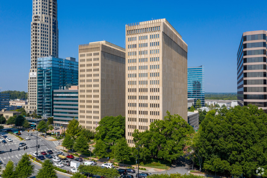
[[74,117],[78,120],[78,90],[54,90],[54,124],[63,126]]

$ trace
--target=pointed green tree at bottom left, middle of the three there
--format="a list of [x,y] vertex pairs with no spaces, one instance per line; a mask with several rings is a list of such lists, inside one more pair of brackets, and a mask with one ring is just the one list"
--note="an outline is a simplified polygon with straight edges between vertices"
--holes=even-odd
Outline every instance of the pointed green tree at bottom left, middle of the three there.
[[19,178],[28,178],[34,173],[34,165],[31,164],[27,153],[23,154],[15,168],[15,174]]

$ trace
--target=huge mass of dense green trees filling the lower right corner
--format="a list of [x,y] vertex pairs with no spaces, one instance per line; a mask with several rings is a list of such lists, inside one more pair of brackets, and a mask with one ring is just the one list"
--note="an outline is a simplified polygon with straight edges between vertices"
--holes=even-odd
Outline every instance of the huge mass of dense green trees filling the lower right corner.
[[267,114],[254,105],[222,108],[216,116],[209,111],[190,138],[200,170],[251,177],[258,167],[267,168]]

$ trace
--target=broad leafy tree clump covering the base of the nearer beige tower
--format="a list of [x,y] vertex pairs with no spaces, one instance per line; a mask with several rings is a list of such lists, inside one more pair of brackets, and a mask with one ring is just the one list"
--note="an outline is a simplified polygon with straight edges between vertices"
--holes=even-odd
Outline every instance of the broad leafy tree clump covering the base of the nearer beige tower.
[[182,156],[186,143],[186,135],[194,133],[193,127],[182,119],[181,116],[171,115],[167,111],[164,120],[150,124],[150,129],[145,132],[135,130],[132,136],[136,147],[140,147],[140,158],[146,162],[151,155],[171,163]]

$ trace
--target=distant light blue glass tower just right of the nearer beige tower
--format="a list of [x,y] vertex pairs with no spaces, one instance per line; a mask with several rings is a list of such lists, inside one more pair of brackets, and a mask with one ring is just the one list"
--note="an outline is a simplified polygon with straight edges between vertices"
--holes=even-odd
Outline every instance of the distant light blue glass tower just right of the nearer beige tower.
[[187,68],[187,98],[196,98],[205,106],[204,65]]

